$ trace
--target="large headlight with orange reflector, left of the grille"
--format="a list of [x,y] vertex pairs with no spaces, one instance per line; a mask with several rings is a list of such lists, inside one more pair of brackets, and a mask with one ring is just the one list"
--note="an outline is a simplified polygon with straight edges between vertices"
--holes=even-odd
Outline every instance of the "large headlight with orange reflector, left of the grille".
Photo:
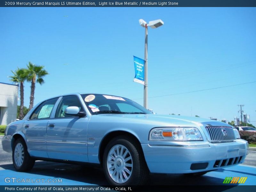
[[152,141],[202,141],[203,137],[195,127],[154,128],[149,132]]

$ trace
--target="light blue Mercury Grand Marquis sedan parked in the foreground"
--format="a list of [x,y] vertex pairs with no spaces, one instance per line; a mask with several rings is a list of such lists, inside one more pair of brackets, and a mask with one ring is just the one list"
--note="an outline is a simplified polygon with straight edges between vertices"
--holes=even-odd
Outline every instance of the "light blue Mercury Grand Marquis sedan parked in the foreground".
[[132,100],[65,94],[9,124],[2,140],[17,171],[35,160],[100,165],[113,185],[141,185],[152,173],[203,175],[243,163],[248,142],[232,126],[155,115]]

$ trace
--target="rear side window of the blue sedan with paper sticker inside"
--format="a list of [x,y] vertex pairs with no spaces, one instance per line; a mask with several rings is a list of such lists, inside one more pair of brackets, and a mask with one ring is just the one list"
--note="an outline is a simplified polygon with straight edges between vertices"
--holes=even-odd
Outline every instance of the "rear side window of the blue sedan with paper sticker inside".
[[33,114],[30,116],[30,119],[46,119],[50,118],[52,108],[58,98],[50,99],[47,101],[44,101],[36,110],[33,112]]

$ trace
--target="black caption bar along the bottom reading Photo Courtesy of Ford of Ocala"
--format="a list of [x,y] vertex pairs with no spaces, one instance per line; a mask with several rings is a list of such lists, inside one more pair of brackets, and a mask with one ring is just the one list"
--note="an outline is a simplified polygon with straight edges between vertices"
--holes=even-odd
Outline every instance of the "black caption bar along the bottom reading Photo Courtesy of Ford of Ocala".
[[[70,189],[69,189],[70,188]],[[69,189],[69,190],[68,190]],[[239,191],[246,190],[246,192],[255,191],[255,186],[246,186],[237,184],[223,184],[223,185],[165,185],[165,186],[98,186],[98,185],[9,185],[0,186],[1,192],[114,192],[114,191],[126,191],[126,192],[170,192],[170,191]]]

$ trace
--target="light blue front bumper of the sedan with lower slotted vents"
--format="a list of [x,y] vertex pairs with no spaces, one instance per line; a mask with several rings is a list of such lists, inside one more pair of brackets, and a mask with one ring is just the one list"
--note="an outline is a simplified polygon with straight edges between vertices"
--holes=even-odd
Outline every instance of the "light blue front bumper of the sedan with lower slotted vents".
[[244,162],[247,141],[226,143],[158,142],[141,144],[150,172],[192,173],[212,171]]

